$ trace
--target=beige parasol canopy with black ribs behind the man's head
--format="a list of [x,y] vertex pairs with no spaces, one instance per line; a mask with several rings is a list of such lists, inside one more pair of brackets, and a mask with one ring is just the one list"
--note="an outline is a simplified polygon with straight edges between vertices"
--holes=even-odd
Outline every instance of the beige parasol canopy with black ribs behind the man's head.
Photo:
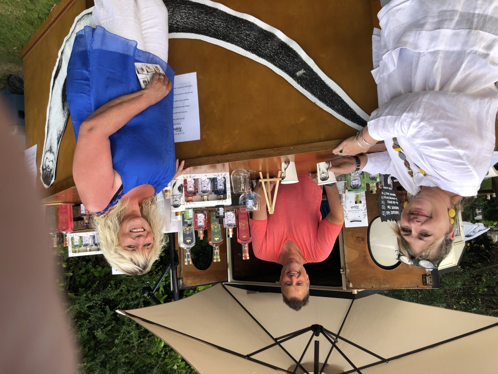
[[310,297],[295,312],[276,293],[216,285],[119,311],[199,373],[497,373],[498,318],[371,295]]

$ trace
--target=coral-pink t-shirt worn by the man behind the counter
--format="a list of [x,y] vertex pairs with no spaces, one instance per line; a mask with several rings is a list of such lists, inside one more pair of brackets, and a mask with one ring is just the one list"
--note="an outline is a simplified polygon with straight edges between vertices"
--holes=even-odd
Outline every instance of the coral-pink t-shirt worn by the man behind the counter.
[[279,185],[273,214],[265,220],[250,220],[254,255],[278,262],[283,245],[292,240],[306,262],[325,260],[342,225],[322,219],[321,201],[322,189],[308,176],[300,176],[299,183]]

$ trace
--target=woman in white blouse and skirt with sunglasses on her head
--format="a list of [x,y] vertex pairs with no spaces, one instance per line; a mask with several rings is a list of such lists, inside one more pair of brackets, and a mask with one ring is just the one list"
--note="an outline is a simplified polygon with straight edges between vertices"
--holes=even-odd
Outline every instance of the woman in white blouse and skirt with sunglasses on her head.
[[[432,267],[454,238],[462,197],[474,196],[495,148],[498,1],[392,0],[373,34],[379,108],[333,153],[330,171],[390,174],[413,196],[396,226],[398,251]],[[429,262],[427,262],[428,260]]]

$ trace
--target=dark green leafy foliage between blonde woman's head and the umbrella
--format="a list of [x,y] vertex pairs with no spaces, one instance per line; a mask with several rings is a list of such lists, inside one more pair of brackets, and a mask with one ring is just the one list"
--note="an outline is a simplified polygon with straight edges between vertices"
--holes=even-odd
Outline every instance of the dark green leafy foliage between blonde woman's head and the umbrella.
[[[64,269],[60,285],[67,294],[67,311],[80,346],[82,373],[196,373],[161,339],[115,312],[152,305],[141,290],[147,284],[155,284],[163,264],[157,263],[148,274],[127,277],[112,275],[103,256],[68,257],[64,247],[59,248],[58,256]],[[203,288],[186,290],[185,296]],[[169,274],[156,297],[161,302],[173,301]]]

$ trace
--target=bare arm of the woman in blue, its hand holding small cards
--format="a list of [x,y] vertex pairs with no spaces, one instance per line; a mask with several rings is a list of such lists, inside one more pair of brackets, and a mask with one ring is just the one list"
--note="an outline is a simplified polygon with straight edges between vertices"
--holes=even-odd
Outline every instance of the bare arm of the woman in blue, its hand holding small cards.
[[120,176],[113,169],[109,137],[170,90],[171,82],[156,74],[144,90],[111,100],[81,124],[73,178],[83,204],[90,211],[104,209],[121,184]]

